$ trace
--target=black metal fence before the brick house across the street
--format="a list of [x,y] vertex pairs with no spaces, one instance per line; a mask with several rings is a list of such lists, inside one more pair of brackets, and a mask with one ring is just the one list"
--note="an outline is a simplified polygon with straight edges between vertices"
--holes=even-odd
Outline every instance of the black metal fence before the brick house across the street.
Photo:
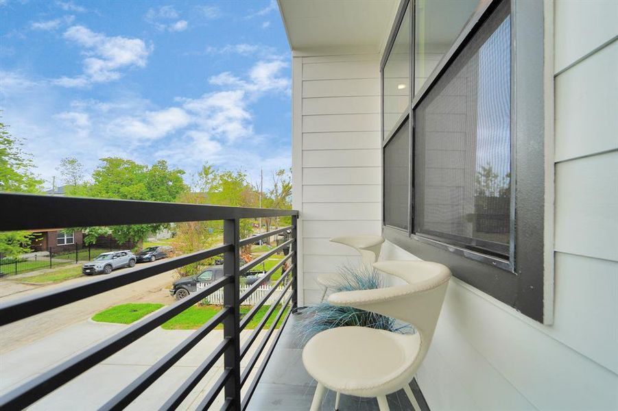
[[93,245],[64,245],[47,247],[19,256],[3,256],[0,253],[0,277],[25,274],[43,269],[53,269],[67,264],[90,261],[100,253],[131,249],[132,244],[118,245],[115,242],[97,242]]

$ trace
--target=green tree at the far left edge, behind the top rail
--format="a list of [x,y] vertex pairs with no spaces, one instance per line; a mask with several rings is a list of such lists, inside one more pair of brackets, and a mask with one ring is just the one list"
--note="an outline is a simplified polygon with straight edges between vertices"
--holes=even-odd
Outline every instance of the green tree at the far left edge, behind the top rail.
[[[23,142],[0,123],[0,191],[40,192],[43,180],[32,172],[32,154],[22,149]],[[36,236],[26,231],[0,232],[0,254],[16,257],[30,251]]]

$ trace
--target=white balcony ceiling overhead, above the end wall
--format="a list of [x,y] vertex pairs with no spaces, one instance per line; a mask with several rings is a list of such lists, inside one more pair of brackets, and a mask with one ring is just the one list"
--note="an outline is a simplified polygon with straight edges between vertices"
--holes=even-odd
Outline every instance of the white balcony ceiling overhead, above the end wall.
[[278,0],[293,51],[362,47],[380,51],[399,0]]

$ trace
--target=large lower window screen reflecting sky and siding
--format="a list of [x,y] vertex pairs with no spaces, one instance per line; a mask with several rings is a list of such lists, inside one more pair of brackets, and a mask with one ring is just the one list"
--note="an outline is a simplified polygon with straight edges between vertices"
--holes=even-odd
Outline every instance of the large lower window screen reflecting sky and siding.
[[417,234],[507,257],[508,2],[499,8],[414,110],[414,217]]

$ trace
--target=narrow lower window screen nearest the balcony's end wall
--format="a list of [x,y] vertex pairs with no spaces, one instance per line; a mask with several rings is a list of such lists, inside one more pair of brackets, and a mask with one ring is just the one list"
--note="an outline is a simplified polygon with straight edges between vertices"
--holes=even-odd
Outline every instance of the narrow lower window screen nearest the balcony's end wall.
[[384,147],[384,223],[408,229],[409,123],[404,121]]

